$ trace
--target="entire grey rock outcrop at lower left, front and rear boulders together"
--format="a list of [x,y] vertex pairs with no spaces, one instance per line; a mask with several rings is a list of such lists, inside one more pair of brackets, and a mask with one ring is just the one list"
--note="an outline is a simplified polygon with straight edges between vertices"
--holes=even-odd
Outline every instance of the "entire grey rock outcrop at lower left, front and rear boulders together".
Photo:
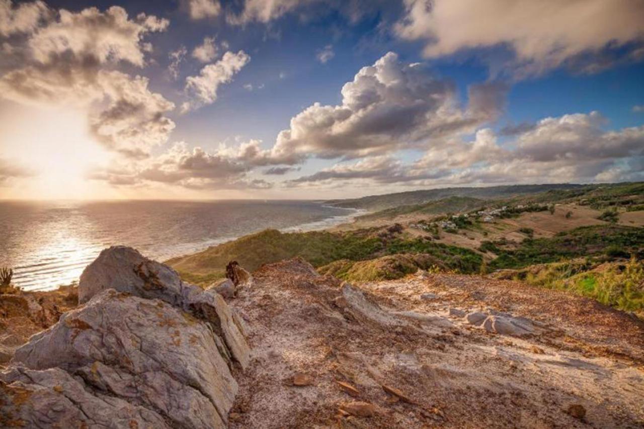
[[127,247],[103,251],[79,294],[0,374],[0,426],[226,426],[249,348],[219,294]]

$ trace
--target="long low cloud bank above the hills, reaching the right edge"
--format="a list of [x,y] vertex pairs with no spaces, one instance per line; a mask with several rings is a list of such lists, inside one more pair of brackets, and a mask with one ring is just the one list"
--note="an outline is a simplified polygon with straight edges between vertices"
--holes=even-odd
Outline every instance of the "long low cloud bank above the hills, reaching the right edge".
[[605,131],[603,124],[597,112],[545,118],[504,144],[492,129],[483,128],[471,141],[451,138],[432,146],[411,164],[390,156],[369,157],[296,178],[289,185],[344,180],[415,186],[641,180],[644,126]]

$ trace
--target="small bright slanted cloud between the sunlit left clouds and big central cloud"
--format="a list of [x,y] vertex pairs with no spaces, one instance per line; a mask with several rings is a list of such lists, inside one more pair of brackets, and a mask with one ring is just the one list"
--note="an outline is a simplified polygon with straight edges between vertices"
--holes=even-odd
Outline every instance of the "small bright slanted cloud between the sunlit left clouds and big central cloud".
[[185,79],[185,91],[191,96],[191,100],[182,105],[182,111],[194,110],[213,104],[217,99],[217,90],[221,84],[232,81],[243,66],[251,61],[247,53],[226,52],[222,59],[214,64],[208,64],[202,68],[198,76],[189,76]]

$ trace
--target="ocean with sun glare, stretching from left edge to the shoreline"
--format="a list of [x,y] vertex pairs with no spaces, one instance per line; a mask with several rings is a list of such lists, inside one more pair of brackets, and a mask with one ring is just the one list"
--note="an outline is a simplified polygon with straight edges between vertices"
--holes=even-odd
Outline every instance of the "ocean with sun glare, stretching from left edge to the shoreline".
[[292,200],[0,202],[0,267],[12,267],[24,290],[55,289],[111,245],[163,261],[267,228],[325,229],[358,213]]

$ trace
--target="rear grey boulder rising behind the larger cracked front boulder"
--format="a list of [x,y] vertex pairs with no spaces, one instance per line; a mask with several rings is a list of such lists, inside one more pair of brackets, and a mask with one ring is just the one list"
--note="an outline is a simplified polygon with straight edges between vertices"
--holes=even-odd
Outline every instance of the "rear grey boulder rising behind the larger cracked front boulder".
[[250,359],[247,341],[222,296],[185,283],[171,267],[150,260],[131,247],[109,247],[82,272],[79,302],[85,303],[105,289],[166,301],[208,321],[223,339],[232,359],[242,368],[247,367]]

